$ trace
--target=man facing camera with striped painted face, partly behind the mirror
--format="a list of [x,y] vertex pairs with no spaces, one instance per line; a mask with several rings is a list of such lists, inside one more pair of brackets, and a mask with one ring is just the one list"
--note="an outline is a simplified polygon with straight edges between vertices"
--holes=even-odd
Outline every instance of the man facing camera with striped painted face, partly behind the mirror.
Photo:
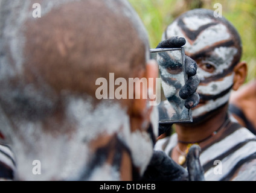
[[165,42],[173,36],[186,39],[185,54],[198,65],[200,103],[192,110],[193,122],[176,124],[176,133],[159,140],[155,149],[185,167],[187,151],[199,144],[206,180],[256,180],[255,136],[228,113],[231,90],[243,84],[247,73],[246,63],[240,62],[239,34],[214,11],[195,9],[167,27],[158,47],[168,48]]

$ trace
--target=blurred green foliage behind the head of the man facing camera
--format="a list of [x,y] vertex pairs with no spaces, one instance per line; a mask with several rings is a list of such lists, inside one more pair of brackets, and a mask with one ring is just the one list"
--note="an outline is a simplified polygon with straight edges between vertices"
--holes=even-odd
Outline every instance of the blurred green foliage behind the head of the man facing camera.
[[215,10],[214,4],[222,5],[222,15],[230,21],[242,37],[243,57],[248,63],[248,78],[256,78],[256,1],[255,0],[129,0],[142,19],[155,48],[162,33],[174,18],[193,8]]

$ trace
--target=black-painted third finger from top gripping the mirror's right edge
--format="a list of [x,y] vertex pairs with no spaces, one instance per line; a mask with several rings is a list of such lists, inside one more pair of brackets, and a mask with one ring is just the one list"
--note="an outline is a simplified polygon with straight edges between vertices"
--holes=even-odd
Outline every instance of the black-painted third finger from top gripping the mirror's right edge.
[[200,79],[197,75],[194,75],[193,77],[188,77],[187,83],[181,88],[181,90],[179,90],[179,96],[182,99],[187,99],[196,92],[199,83]]

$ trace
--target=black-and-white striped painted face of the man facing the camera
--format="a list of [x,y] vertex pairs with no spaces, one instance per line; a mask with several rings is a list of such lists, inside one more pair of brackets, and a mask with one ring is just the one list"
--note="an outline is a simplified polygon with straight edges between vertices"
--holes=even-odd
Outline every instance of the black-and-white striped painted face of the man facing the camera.
[[190,14],[179,17],[168,26],[163,39],[173,36],[186,39],[185,54],[198,65],[200,103],[192,110],[196,122],[228,103],[238,49],[229,27],[210,16]]

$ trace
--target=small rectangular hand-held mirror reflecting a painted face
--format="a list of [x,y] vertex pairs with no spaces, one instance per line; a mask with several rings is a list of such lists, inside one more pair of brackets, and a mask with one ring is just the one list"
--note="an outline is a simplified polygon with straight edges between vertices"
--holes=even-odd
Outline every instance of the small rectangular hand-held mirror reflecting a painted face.
[[161,78],[159,123],[191,122],[191,110],[184,106],[179,90],[187,81],[184,48],[150,49],[152,59],[158,62]]

